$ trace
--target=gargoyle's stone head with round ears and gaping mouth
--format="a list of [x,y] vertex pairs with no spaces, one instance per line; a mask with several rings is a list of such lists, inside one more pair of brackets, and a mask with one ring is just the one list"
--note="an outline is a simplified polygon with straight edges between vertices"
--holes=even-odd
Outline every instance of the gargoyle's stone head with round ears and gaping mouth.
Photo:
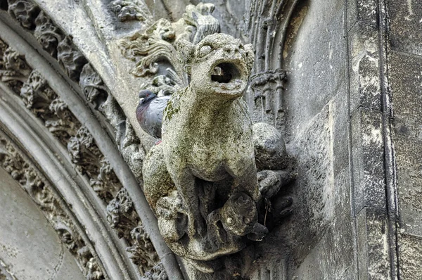
[[237,98],[248,84],[254,53],[251,44],[243,45],[240,39],[216,33],[196,45],[180,39],[177,57],[197,94]]

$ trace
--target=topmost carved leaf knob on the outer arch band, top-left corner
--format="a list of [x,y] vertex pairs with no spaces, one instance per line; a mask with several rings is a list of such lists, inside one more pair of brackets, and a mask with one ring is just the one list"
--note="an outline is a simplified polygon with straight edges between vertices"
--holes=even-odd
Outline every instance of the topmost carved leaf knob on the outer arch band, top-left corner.
[[27,0],[8,0],[8,13],[10,13],[20,25],[32,29],[34,19],[39,13],[39,7]]

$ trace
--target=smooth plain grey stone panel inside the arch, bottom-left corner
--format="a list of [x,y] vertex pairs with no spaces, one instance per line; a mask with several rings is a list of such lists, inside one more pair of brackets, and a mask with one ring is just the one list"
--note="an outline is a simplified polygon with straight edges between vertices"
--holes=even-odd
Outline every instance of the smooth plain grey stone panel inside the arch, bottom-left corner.
[[37,205],[1,167],[0,186],[0,260],[7,270],[19,280],[85,279]]

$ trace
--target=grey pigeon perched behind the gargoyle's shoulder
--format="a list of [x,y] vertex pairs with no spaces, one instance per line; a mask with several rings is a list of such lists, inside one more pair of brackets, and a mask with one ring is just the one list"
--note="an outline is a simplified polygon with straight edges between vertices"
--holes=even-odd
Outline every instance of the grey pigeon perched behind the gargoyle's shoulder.
[[139,92],[139,105],[136,108],[136,119],[143,131],[151,136],[161,138],[162,113],[171,96],[158,97],[147,89]]

